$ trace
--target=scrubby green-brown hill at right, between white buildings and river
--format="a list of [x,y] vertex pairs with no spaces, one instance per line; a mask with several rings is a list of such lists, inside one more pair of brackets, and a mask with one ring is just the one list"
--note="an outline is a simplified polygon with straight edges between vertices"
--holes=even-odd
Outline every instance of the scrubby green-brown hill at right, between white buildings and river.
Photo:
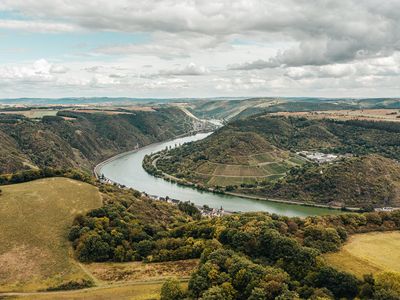
[[265,187],[239,189],[264,197],[348,207],[399,207],[400,164],[378,155],[306,166]]

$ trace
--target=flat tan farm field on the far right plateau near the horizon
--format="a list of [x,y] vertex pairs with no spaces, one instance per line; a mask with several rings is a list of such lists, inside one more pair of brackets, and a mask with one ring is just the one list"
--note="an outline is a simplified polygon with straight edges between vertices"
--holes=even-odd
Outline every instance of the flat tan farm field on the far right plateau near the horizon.
[[367,120],[400,122],[398,109],[326,110],[313,112],[278,112],[271,115],[298,116],[310,119]]

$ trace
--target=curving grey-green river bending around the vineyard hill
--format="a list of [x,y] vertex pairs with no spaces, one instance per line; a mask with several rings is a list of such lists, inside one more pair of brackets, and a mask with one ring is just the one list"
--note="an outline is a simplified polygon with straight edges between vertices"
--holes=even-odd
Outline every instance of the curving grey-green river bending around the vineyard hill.
[[205,138],[209,133],[177,138],[175,140],[151,144],[137,151],[128,152],[110,159],[98,168],[99,173],[104,174],[114,182],[134,188],[149,195],[169,196],[181,201],[191,201],[196,205],[208,205],[209,207],[220,208],[226,211],[249,212],[266,211],[286,216],[305,217],[309,215],[337,214],[340,211],[327,208],[317,208],[270,201],[251,200],[241,197],[214,194],[211,192],[199,191],[191,187],[180,186],[164,179],[149,175],[142,167],[142,161],[146,154],[154,153],[165,149],[167,146],[175,146],[191,141]]

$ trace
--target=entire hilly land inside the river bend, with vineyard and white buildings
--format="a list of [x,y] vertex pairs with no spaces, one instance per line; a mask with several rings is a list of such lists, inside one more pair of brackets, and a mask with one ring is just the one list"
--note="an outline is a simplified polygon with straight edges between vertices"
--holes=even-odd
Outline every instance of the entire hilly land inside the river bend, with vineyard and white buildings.
[[[204,140],[154,156],[153,165],[205,187],[263,198],[398,206],[399,145],[398,123],[259,115],[232,121]],[[339,161],[305,164],[308,160],[296,154],[304,150],[332,153]],[[363,158],[341,162],[345,154]]]

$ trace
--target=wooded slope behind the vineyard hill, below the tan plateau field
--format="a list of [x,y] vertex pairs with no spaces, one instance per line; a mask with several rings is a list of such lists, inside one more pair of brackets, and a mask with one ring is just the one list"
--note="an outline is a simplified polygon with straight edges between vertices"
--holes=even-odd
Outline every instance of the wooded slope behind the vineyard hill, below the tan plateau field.
[[229,128],[238,132],[256,132],[273,145],[287,150],[321,150],[353,155],[376,153],[400,159],[400,123],[396,122],[261,115],[229,123]]

